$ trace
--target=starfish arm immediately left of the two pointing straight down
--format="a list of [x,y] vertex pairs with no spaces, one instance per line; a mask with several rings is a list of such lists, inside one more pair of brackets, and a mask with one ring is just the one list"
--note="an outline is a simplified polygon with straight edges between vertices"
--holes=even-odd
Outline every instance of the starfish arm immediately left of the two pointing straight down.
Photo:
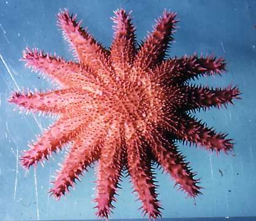
[[75,179],[80,180],[79,175],[99,160],[110,120],[111,118],[106,118],[106,115],[94,116],[87,120],[86,130],[76,136],[71,150],[58,171],[53,187],[49,191],[51,195],[60,199],[70,186],[74,187]]

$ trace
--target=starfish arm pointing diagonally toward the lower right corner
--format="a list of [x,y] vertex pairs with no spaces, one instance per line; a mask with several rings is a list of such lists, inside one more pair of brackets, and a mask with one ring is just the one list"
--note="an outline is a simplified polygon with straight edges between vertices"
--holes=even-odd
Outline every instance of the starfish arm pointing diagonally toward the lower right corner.
[[198,179],[194,179],[195,173],[192,173],[185,163],[184,157],[178,152],[176,145],[168,139],[162,138],[157,133],[150,139],[149,145],[152,153],[159,165],[179,184],[179,189],[184,190],[188,196],[196,197],[201,194]]

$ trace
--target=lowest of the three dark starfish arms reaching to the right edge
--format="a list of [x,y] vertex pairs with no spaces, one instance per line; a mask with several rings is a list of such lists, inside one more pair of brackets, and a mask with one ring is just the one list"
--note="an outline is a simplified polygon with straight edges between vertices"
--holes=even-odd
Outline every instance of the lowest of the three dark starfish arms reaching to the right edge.
[[187,114],[176,114],[169,117],[169,125],[172,133],[176,134],[178,139],[190,142],[190,144],[200,145],[207,150],[216,153],[223,151],[225,153],[233,150],[232,139],[225,139],[227,134],[216,133],[212,128],[197,121]]

